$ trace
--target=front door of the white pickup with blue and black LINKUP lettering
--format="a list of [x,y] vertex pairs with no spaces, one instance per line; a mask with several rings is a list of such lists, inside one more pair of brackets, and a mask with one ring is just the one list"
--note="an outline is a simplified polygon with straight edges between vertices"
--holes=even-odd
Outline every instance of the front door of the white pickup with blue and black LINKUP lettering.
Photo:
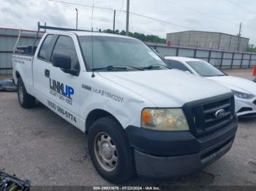
[[75,122],[73,116],[79,115],[81,87],[79,74],[80,63],[72,36],[59,35],[50,62],[53,61],[53,54],[68,55],[71,58],[71,69],[78,71],[77,74],[67,74],[58,67],[50,66],[49,97],[57,104],[57,111],[61,112],[68,120]]

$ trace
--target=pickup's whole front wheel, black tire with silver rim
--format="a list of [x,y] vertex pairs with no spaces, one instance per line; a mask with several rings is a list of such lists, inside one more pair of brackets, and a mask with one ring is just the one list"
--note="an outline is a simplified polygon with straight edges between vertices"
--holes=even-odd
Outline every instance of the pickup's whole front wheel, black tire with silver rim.
[[103,178],[118,184],[135,174],[132,148],[113,117],[101,118],[91,125],[88,144],[92,163]]

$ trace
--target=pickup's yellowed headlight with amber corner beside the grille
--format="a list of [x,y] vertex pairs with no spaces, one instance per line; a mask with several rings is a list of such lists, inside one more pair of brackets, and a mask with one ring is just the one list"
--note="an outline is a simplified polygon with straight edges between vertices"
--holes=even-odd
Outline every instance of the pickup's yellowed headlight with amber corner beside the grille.
[[182,109],[143,109],[141,127],[151,130],[189,130]]

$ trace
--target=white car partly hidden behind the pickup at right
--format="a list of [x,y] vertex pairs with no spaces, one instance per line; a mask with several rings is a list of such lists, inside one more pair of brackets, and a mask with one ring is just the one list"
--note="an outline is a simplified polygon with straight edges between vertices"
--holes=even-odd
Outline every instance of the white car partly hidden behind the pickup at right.
[[220,71],[206,61],[195,58],[166,56],[166,63],[171,69],[179,69],[206,77],[233,91],[238,117],[256,116],[256,84],[241,77],[232,77]]

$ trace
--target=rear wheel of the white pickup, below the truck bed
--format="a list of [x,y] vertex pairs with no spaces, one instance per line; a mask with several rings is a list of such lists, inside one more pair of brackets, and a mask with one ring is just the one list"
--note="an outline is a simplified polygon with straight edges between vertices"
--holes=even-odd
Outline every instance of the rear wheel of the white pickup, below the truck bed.
[[35,105],[36,99],[26,92],[25,85],[21,78],[18,78],[17,93],[20,106],[22,106],[23,108],[30,108]]

